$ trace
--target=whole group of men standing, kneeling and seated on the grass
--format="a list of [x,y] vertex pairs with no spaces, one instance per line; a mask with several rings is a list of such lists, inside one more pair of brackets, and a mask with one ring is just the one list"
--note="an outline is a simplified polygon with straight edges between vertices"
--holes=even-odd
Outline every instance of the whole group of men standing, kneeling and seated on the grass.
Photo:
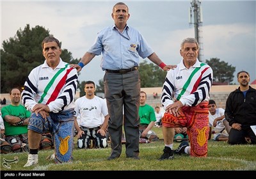
[[[44,63],[31,70],[22,92],[10,89],[11,104],[1,109],[1,153],[28,152],[24,167],[30,167],[39,162],[38,150],[51,148],[56,164],[72,162],[74,129],[79,149],[107,148],[109,137],[108,160],[120,157],[124,136],[126,157],[140,160],[140,141],[159,140],[154,127],[163,130],[164,149],[159,160],[182,154],[207,157],[209,139],[256,144],[252,130],[256,89],[249,86],[248,72],[237,74],[239,88],[230,93],[225,109],[217,108],[209,96],[212,68],[198,61],[200,48],[195,38],[180,43],[178,65],[165,65],[140,32],[128,26],[130,14],[125,3],[116,3],[111,15],[115,24],[98,33],[77,65],[60,58],[58,39],[44,38]],[[105,99],[95,95],[93,81],[86,81],[86,95],[75,100],[77,73],[100,54]],[[148,105],[147,93],[140,90],[140,57],[167,72],[159,96],[164,114],[159,106],[154,110]],[[175,136],[180,135],[184,140],[174,149]]]

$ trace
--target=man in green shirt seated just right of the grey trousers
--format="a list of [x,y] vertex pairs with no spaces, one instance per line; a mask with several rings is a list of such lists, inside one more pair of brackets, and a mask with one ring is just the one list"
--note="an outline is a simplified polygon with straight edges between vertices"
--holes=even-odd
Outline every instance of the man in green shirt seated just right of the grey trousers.
[[[146,104],[146,100],[147,100],[147,94],[144,91],[141,91],[140,92],[140,109],[139,109],[140,138],[148,139],[149,141],[158,141],[156,132],[151,130],[152,127],[154,127],[155,121],[156,121],[154,108]],[[140,139],[140,141],[143,139]]]

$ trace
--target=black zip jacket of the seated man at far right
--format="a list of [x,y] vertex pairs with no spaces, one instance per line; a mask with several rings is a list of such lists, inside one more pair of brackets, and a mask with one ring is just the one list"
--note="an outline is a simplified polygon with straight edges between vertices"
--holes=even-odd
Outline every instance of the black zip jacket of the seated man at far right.
[[242,128],[256,125],[256,89],[249,86],[244,98],[240,87],[232,91],[227,98],[225,118],[229,125],[240,123]]

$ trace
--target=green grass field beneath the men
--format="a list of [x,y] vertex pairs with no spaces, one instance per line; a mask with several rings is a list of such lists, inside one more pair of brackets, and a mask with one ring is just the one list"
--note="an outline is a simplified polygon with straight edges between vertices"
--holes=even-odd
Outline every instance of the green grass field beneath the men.
[[[163,134],[161,128],[154,127],[153,130],[161,140],[140,144],[140,160],[125,158],[124,144],[121,157],[109,161],[107,159],[111,152],[110,146],[105,149],[79,150],[75,143],[72,163],[54,164],[52,160],[45,159],[53,150],[44,150],[38,153],[37,166],[24,168],[28,153],[1,154],[1,171],[256,171],[255,145],[230,145],[223,141],[209,140],[206,158],[175,155],[173,160],[159,161],[157,159],[164,148]],[[179,144],[175,142],[174,148]],[[6,167],[4,160],[13,160],[15,157],[19,161]]]

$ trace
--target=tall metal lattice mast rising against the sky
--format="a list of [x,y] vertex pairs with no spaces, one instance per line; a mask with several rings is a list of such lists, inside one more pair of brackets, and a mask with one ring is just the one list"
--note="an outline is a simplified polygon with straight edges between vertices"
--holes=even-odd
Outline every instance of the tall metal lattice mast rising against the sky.
[[[191,22],[192,17],[194,17],[194,22]],[[195,26],[195,39],[199,43],[199,55],[198,60],[203,59],[203,42],[202,42],[202,25],[203,25],[203,14],[201,1],[193,0],[191,1],[191,7],[189,8],[189,25],[194,24]]]

